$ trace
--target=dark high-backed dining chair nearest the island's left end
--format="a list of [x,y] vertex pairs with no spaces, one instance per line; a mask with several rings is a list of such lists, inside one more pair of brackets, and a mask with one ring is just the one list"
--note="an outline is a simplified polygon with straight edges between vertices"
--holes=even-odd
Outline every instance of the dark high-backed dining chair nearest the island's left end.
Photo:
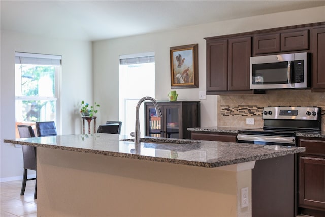
[[[35,137],[34,130],[30,125],[17,125],[20,138]],[[20,195],[25,194],[26,182],[35,180],[34,199],[36,199],[36,178],[27,178],[28,170],[36,171],[36,147],[22,145],[22,155],[24,160],[24,175],[22,179]]]

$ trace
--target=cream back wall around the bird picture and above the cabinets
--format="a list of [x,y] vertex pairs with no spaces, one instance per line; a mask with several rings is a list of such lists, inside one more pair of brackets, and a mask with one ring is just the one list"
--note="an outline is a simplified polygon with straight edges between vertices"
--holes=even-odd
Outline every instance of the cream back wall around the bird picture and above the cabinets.
[[[102,105],[99,119],[102,122],[118,119],[116,93],[118,92],[119,55],[155,52],[155,98],[168,100],[167,94],[171,90],[169,48],[198,43],[199,88],[177,89],[177,92],[178,100],[199,100],[199,90],[206,90],[206,40],[204,37],[321,22],[325,21],[324,14],[325,7],[317,7],[208,23],[168,32],[96,41],[93,44],[94,98]],[[103,111],[103,107],[107,110]],[[130,109],[131,112],[135,110],[135,108]],[[201,100],[201,126],[217,126],[216,95],[208,95],[207,100]]]

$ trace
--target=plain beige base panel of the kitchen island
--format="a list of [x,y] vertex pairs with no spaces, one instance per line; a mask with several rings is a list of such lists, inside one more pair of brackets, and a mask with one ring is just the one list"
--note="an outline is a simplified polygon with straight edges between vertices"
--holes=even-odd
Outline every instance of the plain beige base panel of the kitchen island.
[[[253,166],[204,168],[37,147],[37,216],[251,216]],[[244,187],[249,206],[241,208]]]

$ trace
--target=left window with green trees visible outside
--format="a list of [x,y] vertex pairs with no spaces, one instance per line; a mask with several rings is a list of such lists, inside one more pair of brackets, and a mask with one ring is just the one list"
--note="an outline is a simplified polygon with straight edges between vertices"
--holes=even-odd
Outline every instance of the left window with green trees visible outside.
[[[61,56],[20,52],[15,55],[16,125],[57,123]],[[17,128],[16,137],[19,137]]]

